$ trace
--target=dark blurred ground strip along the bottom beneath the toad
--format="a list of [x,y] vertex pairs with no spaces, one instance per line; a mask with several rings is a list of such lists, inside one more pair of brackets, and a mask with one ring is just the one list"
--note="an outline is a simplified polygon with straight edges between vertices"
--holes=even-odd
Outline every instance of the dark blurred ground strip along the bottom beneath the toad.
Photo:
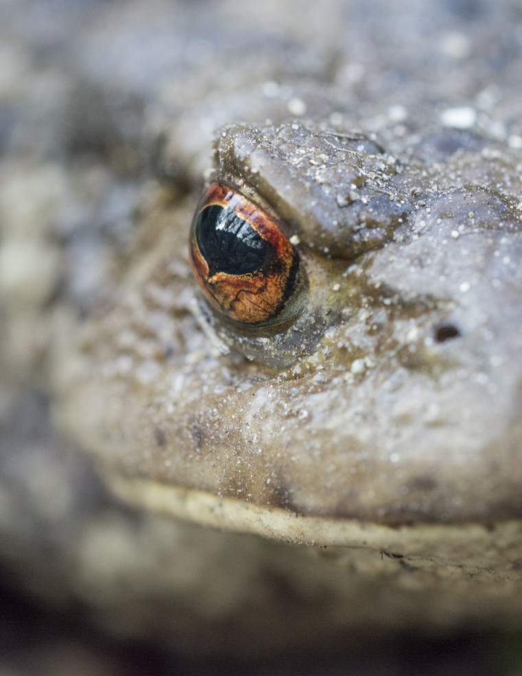
[[520,635],[466,634],[429,640],[401,636],[355,651],[277,655],[270,661],[192,662],[146,644],[118,643],[96,632],[78,607],[53,613],[3,581],[1,676],[515,676]]

